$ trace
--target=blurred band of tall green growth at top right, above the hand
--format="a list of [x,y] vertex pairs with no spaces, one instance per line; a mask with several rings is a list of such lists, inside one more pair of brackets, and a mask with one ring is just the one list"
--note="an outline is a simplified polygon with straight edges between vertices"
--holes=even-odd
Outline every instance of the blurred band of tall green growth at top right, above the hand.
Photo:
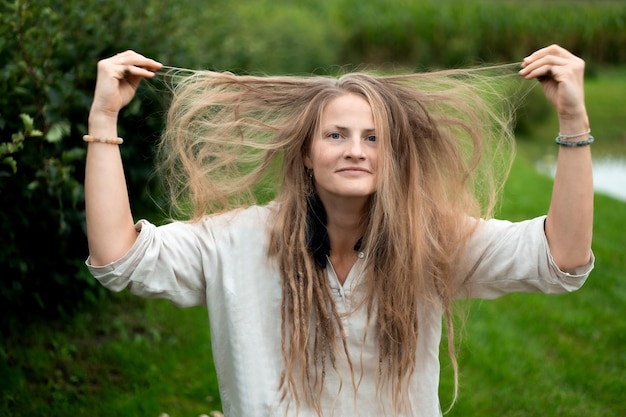
[[332,2],[349,28],[341,56],[418,68],[517,62],[558,43],[595,63],[626,62],[626,8],[616,1]]

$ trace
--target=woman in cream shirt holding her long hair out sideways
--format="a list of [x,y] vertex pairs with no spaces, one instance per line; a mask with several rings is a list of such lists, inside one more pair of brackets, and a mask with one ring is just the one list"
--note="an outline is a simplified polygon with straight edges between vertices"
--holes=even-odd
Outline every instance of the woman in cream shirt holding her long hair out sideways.
[[[557,45],[519,72],[556,107],[560,146],[548,215],[518,223],[489,219],[508,113],[452,71],[184,78],[159,155],[188,221],[135,224],[117,117],[160,68],[133,51],[98,64],[87,264],[112,290],[208,307],[226,416],[440,415],[455,298],[572,291],[593,267],[584,62]],[[274,201],[241,199],[278,164]]]

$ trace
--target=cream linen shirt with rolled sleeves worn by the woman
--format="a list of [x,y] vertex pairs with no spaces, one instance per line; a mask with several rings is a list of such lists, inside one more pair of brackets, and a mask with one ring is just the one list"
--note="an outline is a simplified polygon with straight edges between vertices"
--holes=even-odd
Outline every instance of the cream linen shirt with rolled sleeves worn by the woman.
[[[268,215],[276,207],[252,206],[159,227],[141,220],[136,225],[137,241],[121,259],[101,267],[87,259],[91,273],[113,291],[129,288],[138,296],[166,298],[181,307],[207,306],[227,417],[315,415],[302,406],[296,414],[293,404],[287,407],[279,401],[281,285],[278,268],[268,258],[267,234]],[[467,262],[459,268],[458,281],[464,282],[459,295],[495,298],[515,291],[561,293],[580,288],[593,268],[593,255],[585,267],[560,271],[550,256],[543,225],[544,217],[518,223],[481,221],[469,241]],[[350,312],[343,315],[342,324],[355,379],[363,378],[354,392],[345,358],[338,359],[338,373],[327,369],[321,398],[324,416],[393,415],[390,393],[376,393],[376,332],[369,331],[364,343],[370,327],[366,307],[352,311],[364,291],[363,262],[356,261],[343,285],[328,263],[338,312]],[[435,417],[441,415],[442,308],[422,306],[418,314],[417,365],[407,415]]]

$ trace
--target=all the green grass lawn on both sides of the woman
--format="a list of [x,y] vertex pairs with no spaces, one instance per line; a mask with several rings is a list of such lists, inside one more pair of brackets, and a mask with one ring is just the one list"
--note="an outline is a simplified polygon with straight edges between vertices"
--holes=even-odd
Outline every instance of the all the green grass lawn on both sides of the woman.
[[[587,90],[596,139],[623,149],[626,77],[616,71]],[[499,217],[547,211],[552,182],[528,156],[555,153],[555,132],[550,120],[533,135],[547,145],[520,145]],[[578,292],[469,302],[449,416],[626,416],[625,224],[626,203],[598,195],[596,269]],[[441,356],[447,408],[452,378]],[[208,414],[220,402],[206,310],[115,294],[65,321],[17,325],[0,340],[0,393],[7,417]]]

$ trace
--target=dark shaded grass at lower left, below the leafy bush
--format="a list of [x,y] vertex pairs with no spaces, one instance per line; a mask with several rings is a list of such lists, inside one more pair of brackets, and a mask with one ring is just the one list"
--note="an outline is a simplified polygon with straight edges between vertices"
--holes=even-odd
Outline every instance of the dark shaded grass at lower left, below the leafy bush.
[[206,309],[115,294],[2,344],[2,416],[198,416],[220,409]]

